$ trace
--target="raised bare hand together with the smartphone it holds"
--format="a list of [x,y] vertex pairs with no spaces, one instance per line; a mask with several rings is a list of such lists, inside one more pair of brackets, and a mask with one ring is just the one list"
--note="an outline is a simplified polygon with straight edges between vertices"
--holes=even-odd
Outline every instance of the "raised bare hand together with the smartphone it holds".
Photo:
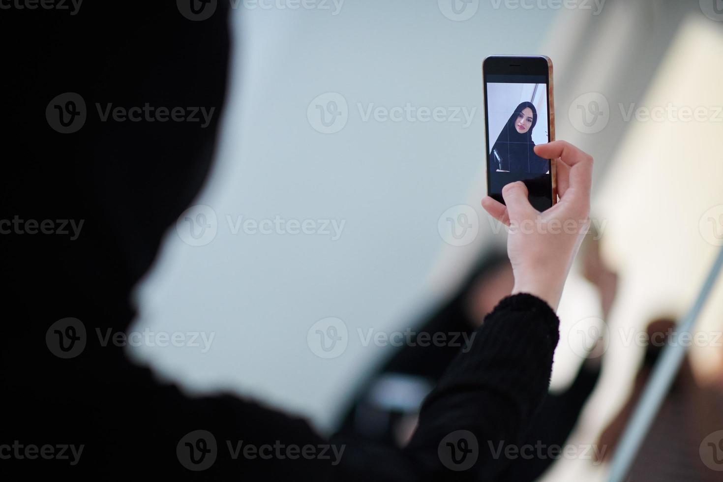
[[592,158],[555,142],[547,57],[488,57],[482,77],[488,193],[482,206],[510,226],[512,293],[531,293],[557,309],[589,229]]

